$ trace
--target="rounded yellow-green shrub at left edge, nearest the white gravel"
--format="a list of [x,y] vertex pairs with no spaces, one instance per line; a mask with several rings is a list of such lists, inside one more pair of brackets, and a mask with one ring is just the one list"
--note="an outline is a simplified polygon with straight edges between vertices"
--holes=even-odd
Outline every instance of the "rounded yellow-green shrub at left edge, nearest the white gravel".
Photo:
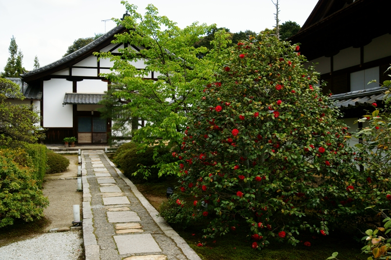
[[7,152],[0,154],[0,227],[12,225],[15,219],[40,219],[48,200],[31,170],[8,157],[12,153],[4,154]]

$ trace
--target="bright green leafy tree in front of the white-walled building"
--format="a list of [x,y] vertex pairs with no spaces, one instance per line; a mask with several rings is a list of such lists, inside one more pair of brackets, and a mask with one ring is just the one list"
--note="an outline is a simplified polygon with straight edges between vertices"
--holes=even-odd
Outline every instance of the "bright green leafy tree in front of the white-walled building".
[[[147,121],[146,126],[134,134],[133,140],[143,142],[145,146],[163,146],[166,142],[170,146],[179,146],[186,115],[194,100],[200,97],[203,86],[211,80],[229,34],[216,32],[211,43],[214,48],[199,59],[197,55],[205,54],[207,48],[195,48],[194,44],[215,25],[195,22],[180,29],[167,17],[159,16],[151,4],[143,17],[136,12],[135,5],[123,3],[129,16],[116,22],[129,31],[116,35],[112,42],[128,43],[129,47],[120,50],[121,56],[95,53],[99,59],[114,61],[113,73],[103,76],[121,85],[111,95],[118,102],[127,102],[124,108],[132,117]],[[143,47],[135,51],[130,46]],[[140,60],[145,64],[141,70],[131,64]],[[145,80],[152,72],[157,75],[157,80]]]

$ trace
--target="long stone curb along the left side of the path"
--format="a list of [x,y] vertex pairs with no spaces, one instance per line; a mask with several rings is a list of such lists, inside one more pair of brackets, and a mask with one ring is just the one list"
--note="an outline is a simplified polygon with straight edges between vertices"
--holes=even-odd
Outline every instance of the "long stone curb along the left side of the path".
[[[91,211],[91,193],[86,171],[86,161],[84,160],[84,151],[82,150],[82,184],[83,184],[83,240],[86,260],[100,260],[100,248],[94,235],[94,227],[92,226],[92,211]],[[83,167],[84,166],[84,167]],[[83,175],[83,173],[85,173]]]

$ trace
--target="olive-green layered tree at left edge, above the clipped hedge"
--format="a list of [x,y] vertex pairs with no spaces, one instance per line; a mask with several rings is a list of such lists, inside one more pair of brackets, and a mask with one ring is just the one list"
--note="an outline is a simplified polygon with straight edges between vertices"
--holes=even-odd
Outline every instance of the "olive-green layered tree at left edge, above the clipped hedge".
[[19,86],[10,80],[0,79],[0,146],[21,146],[43,139],[43,129],[38,124],[40,118],[33,106],[12,105],[7,98],[23,100]]

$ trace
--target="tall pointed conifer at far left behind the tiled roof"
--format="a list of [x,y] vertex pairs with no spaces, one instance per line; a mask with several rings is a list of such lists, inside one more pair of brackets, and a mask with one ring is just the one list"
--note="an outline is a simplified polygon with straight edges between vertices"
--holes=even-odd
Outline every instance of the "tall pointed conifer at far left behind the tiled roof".
[[18,51],[18,44],[16,44],[14,36],[11,38],[8,52],[10,57],[8,58],[7,64],[4,67],[2,77],[20,78],[21,74],[23,74],[23,70],[25,70],[22,66],[23,54],[20,50]]

